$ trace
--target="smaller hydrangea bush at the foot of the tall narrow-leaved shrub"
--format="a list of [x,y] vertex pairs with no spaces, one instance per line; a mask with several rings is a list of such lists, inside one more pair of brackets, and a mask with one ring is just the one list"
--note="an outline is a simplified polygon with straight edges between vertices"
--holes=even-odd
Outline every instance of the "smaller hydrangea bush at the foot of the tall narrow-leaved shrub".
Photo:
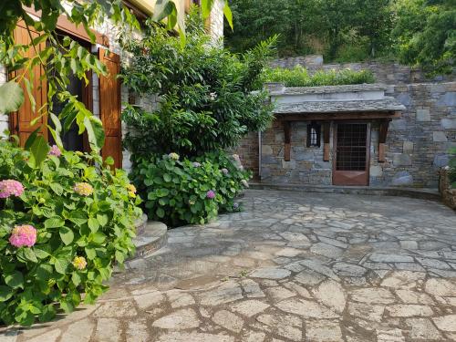
[[136,164],[131,178],[149,218],[172,226],[205,223],[218,212],[239,210],[234,198],[251,176],[224,153],[206,153],[193,160],[170,153],[140,158]]

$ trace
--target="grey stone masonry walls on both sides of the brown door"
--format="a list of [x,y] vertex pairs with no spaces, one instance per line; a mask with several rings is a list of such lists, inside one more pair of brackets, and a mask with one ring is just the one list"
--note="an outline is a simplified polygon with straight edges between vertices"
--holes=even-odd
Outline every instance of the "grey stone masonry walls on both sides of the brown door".
[[[315,62],[316,58],[307,58]],[[306,62],[304,57],[287,58],[276,65],[292,67],[293,61]],[[367,64],[351,64],[358,67]],[[401,117],[389,124],[387,137],[386,161],[378,162],[378,122],[370,126],[370,186],[407,186],[437,189],[440,168],[448,164],[448,150],[456,146],[456,82],[432,81],[416,83],[422,79],[419,71],[410,67],[368,64],[375,71],[378,80],[389,84],[386,95],[394,97],[406,109]],[[332,68],[334,65],[323,65]],[[338,68],[348,65],[338,65]],[[358,68],[357,67],[357,68]],[[337,68],[337,67],[336,67]],[[418,76],[417,76],[418,75]],[[451,77],[445,77],[446,79]],[[305,121],[291,124],[291,161],[284,161],[284,130],[278,122],[262,133],[261,180],[273,183],[331,184],[332,162],[323,161],[323,143],[321,148],[306,148]],[[331,130],[334,128],[331,127]],[[332,133],[332,131],[331,131]],[[246,165],[254,165],[258,152],[251,146],[258,144],[257,134],[249,135],[242,141],[237,153],[245,156]],[[333,143],[331,134],[331,144]],[[255,149],[256,150],[256,149]],[[331,145],[331,158],[333,153]],[[255,176],[258,168],[253,167]]]

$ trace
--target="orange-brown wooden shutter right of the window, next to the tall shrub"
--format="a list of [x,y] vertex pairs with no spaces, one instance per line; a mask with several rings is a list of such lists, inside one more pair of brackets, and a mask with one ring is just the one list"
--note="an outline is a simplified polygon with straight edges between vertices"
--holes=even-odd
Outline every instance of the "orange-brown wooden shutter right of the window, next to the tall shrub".
[[103,158],[111,156],[116,168],[122,167],[122,130],[120,125],[120,57],[104,48],[98,49],[98,58],[108,68],[109,75],[99,78],[99,114],[105,129]]

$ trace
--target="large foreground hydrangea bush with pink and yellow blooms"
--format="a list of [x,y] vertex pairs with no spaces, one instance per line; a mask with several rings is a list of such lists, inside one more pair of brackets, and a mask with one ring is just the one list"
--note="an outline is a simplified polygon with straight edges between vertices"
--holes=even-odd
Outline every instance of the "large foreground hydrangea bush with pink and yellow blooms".
[[[0,322],[47,321],[93,303],[132,253],[135,189],[96,154],[53,148],[39,166],[0,141]],[[112,161],[107,161],[111,163]],[[1,181],[3,180],[3,181]],[[11,181],[7,181],[11,180]],[[21,190],[22,186],[22,190]]]

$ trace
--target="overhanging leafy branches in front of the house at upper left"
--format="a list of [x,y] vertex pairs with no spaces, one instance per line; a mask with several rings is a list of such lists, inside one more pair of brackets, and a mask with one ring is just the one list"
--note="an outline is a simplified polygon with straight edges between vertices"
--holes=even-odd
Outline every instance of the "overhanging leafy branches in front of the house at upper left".
[[[209,16],[213,0],[202,0],[203,16]],[[25,7],[30,7],[41,16],[38,20],[30,16]],[[68,9],[69,8],[69,9]],[[231,22],[231,12],[225,5],[224,13]],[[75,121],[78,124],[79,134],[88,130],[88,140],[92,150],[98,151],[104,141],[104,132],[101,122],[85,107],[80,98],[67,91],[69,76],[75,75],[88,83],[88,72],[106,75],[106,67],[86,47],[78,44],[57,30],[59,16],[66,16],[70,23],[84,27],[95,44],[96,37],[91,27],[101,26],[104,22],[117,26],[119,36],[127,36],[131,30],[140,29],[140,24],[130,9],[123,5],[121,0],[111,1],[78,1],[68,0],[8,0],[0,3],[0,65],[8,71],[16,71],[16,77],[0,86],[0,113],[8,113],[19,109],[23,104],[25,94],[18,83],[25,82],[26,96],[30,99],[32,110],[39,118],[47,114],[53,125],[39,130],[49,130],[59,148],[63,148],[60,138],[62,128],[69,128]],[[177,7],[171,0],[158,0],[155,5],[153,20],[165,21],[168,29],[178,26],[181,37],[184,36],[184,23],[178,21]],[[18,45],[14,39],[14,30],[19,22],[23,21],[30,36],[30,44]],[[33,37],[31,29],[38,33]],[[184,39],[181,39],[183,42]],[[41,48],[39,47],[41,45]],[[44,46],[44,47],[43,47]],[[29,54],[28,51],[35,51]],[[33,57],[30,57],[33,55]],[[33,97],[34,67],[42,67],[45,74],[41,80],[47,84],[47,103],[36,108]],[[55,101],[60,102],[64,109],[57,113],[53,109]],[[64,125],[61,124],[65,123]],[[37,135],[32,134],[30,140]],[[33,146],[29,141],[27,146]],[[36,145],[35,145],[36,146]],[[46,146],[43,145],[46,149]],[[34,150],[32,150],[33,152]],[[44,150],[39,150],[42,154]]]

